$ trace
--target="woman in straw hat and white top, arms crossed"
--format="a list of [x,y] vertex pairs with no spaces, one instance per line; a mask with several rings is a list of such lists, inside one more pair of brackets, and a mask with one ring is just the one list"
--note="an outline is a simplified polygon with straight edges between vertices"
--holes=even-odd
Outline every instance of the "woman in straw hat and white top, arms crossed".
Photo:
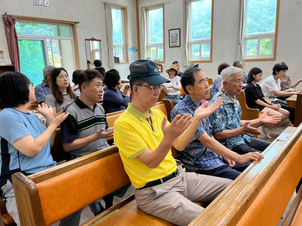
[[170,81],[170,83],[164,83],[163,88],[166,94],[166,98],[174,101],[174,105],[176,105],[180,100],[180,88],[182,84],[180,83],[180,77],[178,75],[177,66],[175,64],[171,64],[169,69],[166,70],[166,73],[169,75],[166,77]]

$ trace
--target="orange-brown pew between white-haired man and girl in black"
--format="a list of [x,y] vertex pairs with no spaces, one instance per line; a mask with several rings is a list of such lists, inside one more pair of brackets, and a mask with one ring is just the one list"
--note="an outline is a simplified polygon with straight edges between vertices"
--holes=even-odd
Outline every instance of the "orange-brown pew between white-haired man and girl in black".
[[[246,96],[244,91],[241,91],[240,94],[236,95],[237,100],[239,101],[240,108],[241,108],[241,120],[253,120],[259,118],[262,113],[260,113],[259,109],[249,108],[246,105]],[[258,126],[254,126],[258,128]],[[252,134],[254,137],[258,137],[258,135]]]

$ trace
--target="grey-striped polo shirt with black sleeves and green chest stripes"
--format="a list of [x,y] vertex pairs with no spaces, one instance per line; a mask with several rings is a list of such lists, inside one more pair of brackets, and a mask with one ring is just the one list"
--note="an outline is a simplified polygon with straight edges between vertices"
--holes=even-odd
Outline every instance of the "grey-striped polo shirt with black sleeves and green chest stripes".
[[[61,123],[61,142],[72,143],[76,139],[91,136],[101,128],[108,128],[104,108],[99,104],[93,105],[93,110],[85,105],[79,98],[68,105],[64,112],[68,117]],[[105,138],[98,139],[82,148],[72,150],[71,158],[84,156],[100,149],[109,147]]]

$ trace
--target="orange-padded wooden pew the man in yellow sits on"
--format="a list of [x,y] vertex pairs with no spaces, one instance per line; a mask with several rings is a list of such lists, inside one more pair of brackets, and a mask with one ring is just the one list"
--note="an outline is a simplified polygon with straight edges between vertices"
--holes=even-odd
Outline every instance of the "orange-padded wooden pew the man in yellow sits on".
[[[108,167],[112,162],[114,167]],[[28,177],[18,172],[12,175],[12,180],[23,226],[53,224],[129,183],[116,146]],[[83,225],[91,225],[111,212],[97,225],[173,225],[141,211],[134,195]]]

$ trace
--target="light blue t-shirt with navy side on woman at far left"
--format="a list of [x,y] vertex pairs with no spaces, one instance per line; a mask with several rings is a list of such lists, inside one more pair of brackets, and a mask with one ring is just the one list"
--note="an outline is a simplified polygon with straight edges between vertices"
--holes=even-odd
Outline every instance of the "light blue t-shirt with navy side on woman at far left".
[[12,145],[21,137],[35,139],[44,131],[45,127],[31,111],[24,113],[14,108],[0,111],[0,187],[7,179],[11,180],[15,172],[32,174],[56,165],[50,154],[50,141],[34,157],[24,155]]

